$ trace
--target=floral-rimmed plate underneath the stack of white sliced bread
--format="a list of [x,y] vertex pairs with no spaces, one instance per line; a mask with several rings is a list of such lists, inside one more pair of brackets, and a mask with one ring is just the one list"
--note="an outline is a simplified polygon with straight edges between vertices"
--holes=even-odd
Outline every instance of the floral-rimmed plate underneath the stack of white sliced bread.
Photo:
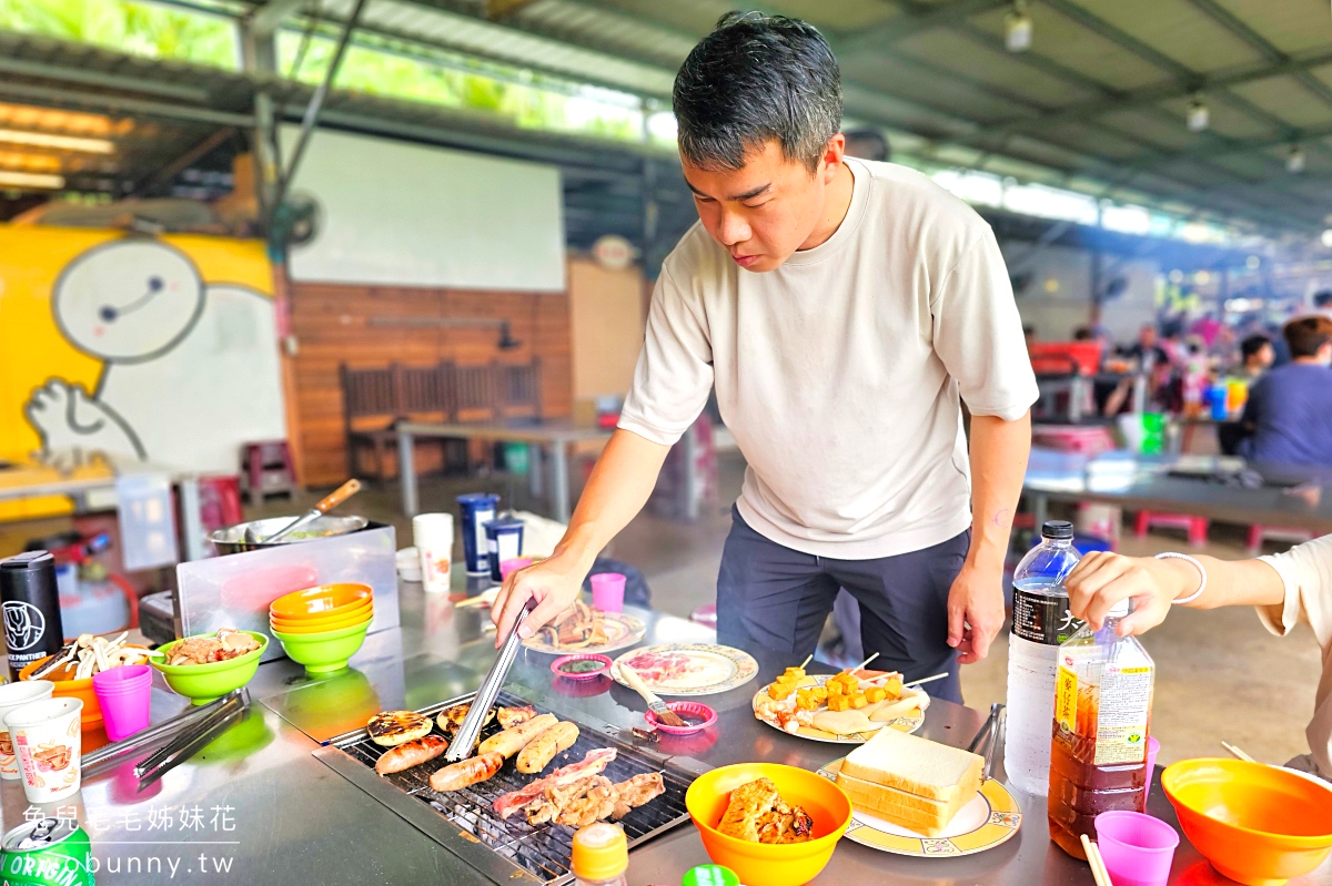
[[[827,764],[819,769],[819,774],[835,782],[842,770],[842,760],[846,757]],[[1020,826],[1022,806],[1003,784],[987,778],[971,802],[958,810],[948,827],[938,837],[924,837],[854,809],[846,839],[896,855],[958,858],[1008,842]]]

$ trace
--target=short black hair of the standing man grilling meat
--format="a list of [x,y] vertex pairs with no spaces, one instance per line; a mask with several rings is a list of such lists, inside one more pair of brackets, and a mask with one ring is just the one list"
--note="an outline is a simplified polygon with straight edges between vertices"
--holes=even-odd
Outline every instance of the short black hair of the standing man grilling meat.
[[810,24],[729,12],[694,47],[671,96],[679,152],[693,166],[741,169],[775,138],[782,156],[814,172],[842,126],[836,59]]

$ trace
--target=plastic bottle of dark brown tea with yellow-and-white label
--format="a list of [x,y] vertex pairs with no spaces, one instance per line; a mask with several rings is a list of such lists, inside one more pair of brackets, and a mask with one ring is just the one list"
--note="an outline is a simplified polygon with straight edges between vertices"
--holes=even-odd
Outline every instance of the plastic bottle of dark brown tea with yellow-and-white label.
[[1059,647],[1047,809],[1051,839],[1078,858],[1086,858],[1080,834],[1096,835],[1096,815],[1146,812],[1156,665],[1136,637],[1116,635],[1127,615],[1124,600],[1100,631],[1084,625]]

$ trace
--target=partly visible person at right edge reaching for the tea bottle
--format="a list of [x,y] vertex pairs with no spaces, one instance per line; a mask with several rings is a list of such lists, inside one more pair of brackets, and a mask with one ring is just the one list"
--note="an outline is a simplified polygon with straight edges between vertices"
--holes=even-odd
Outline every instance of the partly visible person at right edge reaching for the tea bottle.
[[1199,556],[1195,561],[1094,551],[1068,575],[1070,609],[1099,629],[1116,603],[1132,600],[1132,613],[1119,623],[1120,636],[1155,628],[1172,604],[1256,607],[1264,627],[1283,637],[1307,623],[1323,648],[1323,677],[1305,730],[1312,753],[1287,765],[1332,781],[1332,535],[1257,560]]

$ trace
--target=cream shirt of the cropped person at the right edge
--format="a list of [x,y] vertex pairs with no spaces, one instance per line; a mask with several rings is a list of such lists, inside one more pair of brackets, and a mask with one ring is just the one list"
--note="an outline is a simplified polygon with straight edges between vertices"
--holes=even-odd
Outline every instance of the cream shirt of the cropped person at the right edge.
[[1332,535],[1259,559],[1271,564],[1285,583],[1284,605],[1259,608],[1263,624],[1284,637],[1305,621],[1323,649],[1323,678],[1313,696],[1313,720],[1304,734],[1313,752],[1315,772],[1332,780]]

